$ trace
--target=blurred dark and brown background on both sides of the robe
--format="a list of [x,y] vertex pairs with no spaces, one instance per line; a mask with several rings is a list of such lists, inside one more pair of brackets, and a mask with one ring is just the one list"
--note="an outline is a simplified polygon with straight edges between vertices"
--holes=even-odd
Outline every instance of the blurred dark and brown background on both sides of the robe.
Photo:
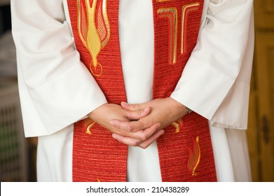
[[[254,0],[254,14],[247,137],[252,180],[266,182],[274,181],[274,0]],[[0,181],[36,181],[36,145],[23,133],[10,0],[0,0]]]

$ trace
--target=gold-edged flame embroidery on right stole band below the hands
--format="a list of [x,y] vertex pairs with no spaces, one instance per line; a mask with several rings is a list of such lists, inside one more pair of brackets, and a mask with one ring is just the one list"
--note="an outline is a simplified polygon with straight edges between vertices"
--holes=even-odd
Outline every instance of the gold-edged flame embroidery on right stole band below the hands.
[[[194,140],[194,139],[193,139]],[[193,151],[189,148],[189,162],[188,169],[191,172],[192,176],[197,176],[196,169],[200,162],[200,144],[199,137],[196,137],[196,140],[193,142]]]

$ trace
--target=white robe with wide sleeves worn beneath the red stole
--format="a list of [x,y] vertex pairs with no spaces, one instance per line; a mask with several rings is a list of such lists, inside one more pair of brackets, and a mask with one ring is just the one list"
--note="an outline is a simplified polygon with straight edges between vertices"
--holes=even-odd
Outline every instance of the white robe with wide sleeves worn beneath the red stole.
[[[252,0],[205,0],[198,43],[171,95],[209,120],[218,181],[251,181],[245,130],[252,5]],[[147,102],[152,3],[120,0],[119,6],[127,99]],[[71,181],[73,123],[107,100],[74,48],[66,0],[12,0],[11,10],[25,136],[39,137],[37,179]],[[156,142],[146,150],[129,147],[128,181],[161,181]]]

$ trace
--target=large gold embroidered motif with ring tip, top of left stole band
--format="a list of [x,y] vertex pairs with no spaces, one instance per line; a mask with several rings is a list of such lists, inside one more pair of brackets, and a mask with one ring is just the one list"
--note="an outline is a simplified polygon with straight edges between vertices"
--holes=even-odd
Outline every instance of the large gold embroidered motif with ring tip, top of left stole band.
[[93,0],[92,2],[90,6],[90,0],[77,0],[78,34],[92,57],[91,73],[93,76],[101,76],[103,68],[97,61],[97,57],[102,48],[107,45],[111,31],[107,15],[107,0]]

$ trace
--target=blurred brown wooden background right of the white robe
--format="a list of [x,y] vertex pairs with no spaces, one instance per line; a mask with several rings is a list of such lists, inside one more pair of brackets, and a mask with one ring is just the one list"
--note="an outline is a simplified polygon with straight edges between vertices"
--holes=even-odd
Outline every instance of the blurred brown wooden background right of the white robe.
[[274,181],[274,0],[254,0],[255,51],[247,139],[253,181]]

